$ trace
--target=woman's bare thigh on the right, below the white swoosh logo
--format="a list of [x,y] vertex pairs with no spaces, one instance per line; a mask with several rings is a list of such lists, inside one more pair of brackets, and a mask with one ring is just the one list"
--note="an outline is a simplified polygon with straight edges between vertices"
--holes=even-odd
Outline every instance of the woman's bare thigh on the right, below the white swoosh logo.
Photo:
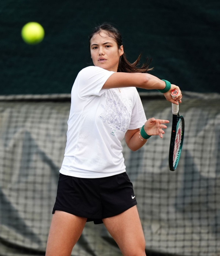
[[136,205],[103,219],[103,223],[124,256],[146,255],[145,238]]

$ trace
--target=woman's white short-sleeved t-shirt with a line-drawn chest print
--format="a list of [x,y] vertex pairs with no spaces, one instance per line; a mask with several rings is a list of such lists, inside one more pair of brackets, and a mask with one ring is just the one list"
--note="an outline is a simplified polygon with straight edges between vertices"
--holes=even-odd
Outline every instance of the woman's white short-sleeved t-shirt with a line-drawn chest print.
[[121,141],[147,121],[136,87],[102,89],[114,71],[90,66],[73,84],[60,173],[103,178],[125,172]]

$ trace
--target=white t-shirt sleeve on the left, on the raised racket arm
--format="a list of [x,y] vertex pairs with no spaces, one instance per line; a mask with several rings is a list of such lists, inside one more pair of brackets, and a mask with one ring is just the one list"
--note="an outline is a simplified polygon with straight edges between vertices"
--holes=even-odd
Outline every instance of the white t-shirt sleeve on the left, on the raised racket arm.
[[78,93],[81,98],[95,95],[101,96],[108,89],[102,89],[103,85],[114,71],[108,71],[101,67],[85,67],[79,72]]

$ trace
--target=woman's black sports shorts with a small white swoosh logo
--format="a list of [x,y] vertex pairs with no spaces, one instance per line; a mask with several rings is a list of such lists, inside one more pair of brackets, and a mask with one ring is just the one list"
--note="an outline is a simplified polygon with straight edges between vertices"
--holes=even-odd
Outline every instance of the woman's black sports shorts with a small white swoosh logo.
[[103,223],[136,205],[133,185],[126,172],[104,178],[77,178],[59,174],[57,196],[52,211],[66,211]]

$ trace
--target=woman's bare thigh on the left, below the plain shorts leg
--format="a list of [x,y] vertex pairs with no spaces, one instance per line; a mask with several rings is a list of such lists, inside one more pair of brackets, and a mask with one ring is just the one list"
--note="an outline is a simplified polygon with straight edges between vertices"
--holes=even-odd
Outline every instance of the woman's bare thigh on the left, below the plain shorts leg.
[[87,218],[56,210],[52,216],[46,256],[70,256]]

